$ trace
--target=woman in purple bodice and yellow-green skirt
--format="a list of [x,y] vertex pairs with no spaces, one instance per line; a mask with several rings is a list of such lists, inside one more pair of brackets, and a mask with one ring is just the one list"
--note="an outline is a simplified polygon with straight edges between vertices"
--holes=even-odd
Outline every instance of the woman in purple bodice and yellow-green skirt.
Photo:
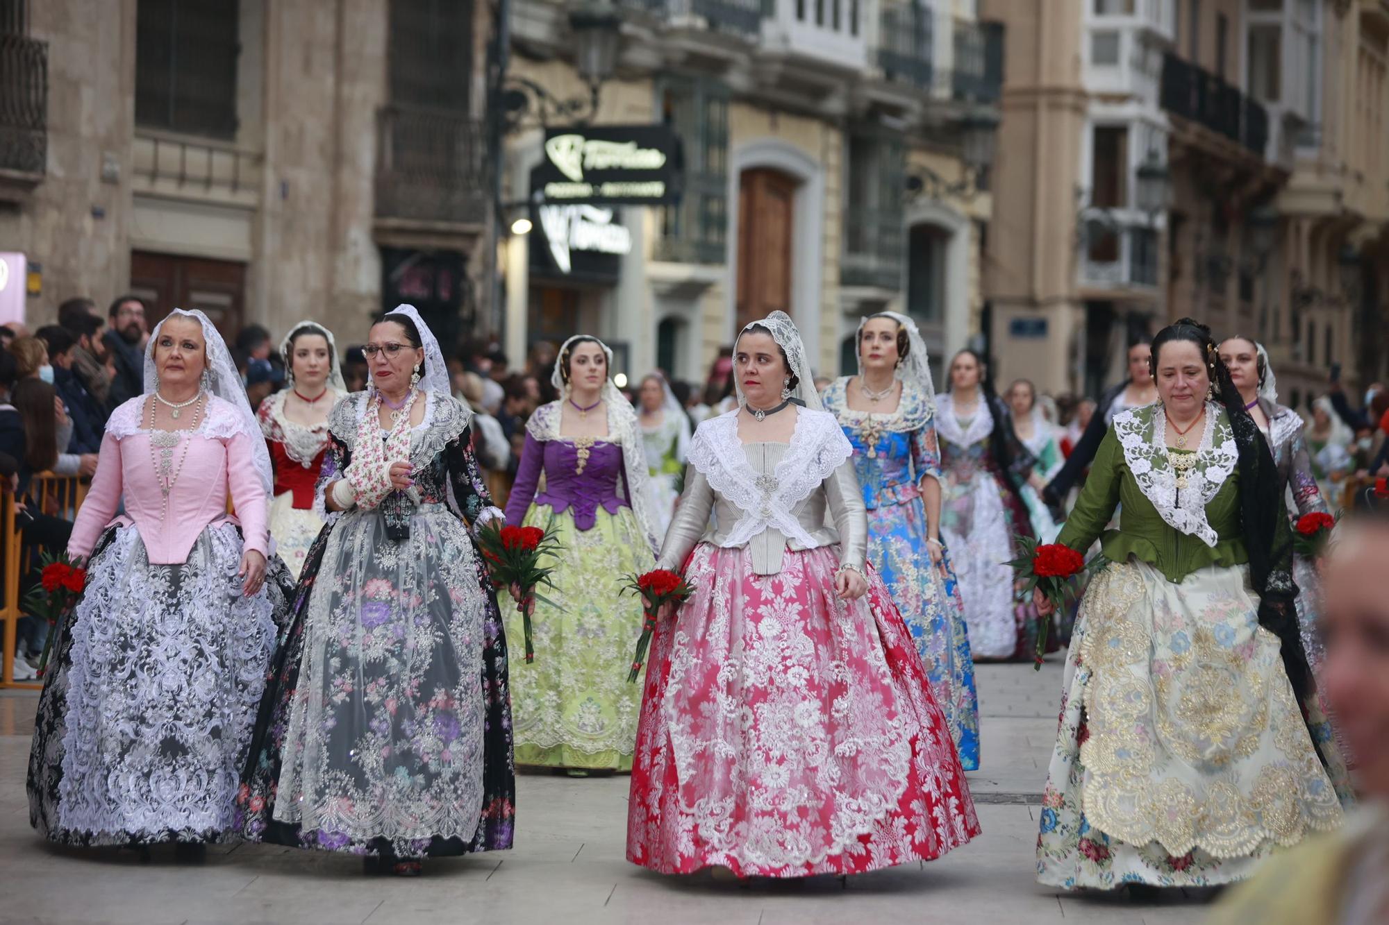
[[[608,379],[613,353],[596,338],[569,338],[551,382],[563,396],[526,424],[507,522],[549,526],[560,551],[536,601],[535,661],[514,662],[511,708],[517,764],[631,771],[642,685],[628,683],[642,631],[642,601],[621,594],[625,576],[650,571],[656,536],[646,510],[646,456],[636,412]],[[539,489],[540,474],[544,489]],[[521,614],[507,617],[521,638]]]

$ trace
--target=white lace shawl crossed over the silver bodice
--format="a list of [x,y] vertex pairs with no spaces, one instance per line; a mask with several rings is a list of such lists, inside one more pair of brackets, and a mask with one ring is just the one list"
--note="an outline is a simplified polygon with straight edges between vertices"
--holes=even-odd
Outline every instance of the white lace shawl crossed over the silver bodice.
[[815,540],[796,519],[795,508],[854,453],[839,421],[828,411],[796,410],[796,431],[775,475],[758,474],[738,439],[738,411],[699,425],[689,461],[710,488],[743,515],[728,531],[724,546],[742,546],[767,528],[806,547]]

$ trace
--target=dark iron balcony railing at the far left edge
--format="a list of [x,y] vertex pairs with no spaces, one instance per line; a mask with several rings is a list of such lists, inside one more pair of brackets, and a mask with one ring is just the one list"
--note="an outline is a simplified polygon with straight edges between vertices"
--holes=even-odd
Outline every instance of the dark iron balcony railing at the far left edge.
[[43,174],[49,160],[49,43],[0,35],[0,169]]

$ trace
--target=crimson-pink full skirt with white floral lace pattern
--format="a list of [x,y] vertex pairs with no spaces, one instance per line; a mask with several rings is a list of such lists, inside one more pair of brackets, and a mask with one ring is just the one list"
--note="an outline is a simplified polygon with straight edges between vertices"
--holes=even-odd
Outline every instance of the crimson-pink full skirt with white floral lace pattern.
[[651,642],[626,857],[663,874],[861,874],[979,833],[940,707],[878,574],[835,597],[839,547],[700,543]]

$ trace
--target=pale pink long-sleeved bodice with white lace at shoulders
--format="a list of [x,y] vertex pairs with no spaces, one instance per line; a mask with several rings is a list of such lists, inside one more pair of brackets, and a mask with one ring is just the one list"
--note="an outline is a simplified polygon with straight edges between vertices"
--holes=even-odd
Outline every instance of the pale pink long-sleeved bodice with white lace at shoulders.
[[143,408],[142,396],[111,414],[92,490],[72,525],[68,554],[92,554],[124,497],[125,515],[119,519],[135,524],[150,564],[182,564],[210,524],[238,519],[226,514],[226,497],[231,492],[246,549],[267,556],[269,496],[251,458],[251,447],[263,440],[260,433],[247,431],[229,403],[210,397],[197,431],[182,433],[174,447],[178,479],[161,519],[164,496],[156,453],[150,449],[150,432],[139,428]]

